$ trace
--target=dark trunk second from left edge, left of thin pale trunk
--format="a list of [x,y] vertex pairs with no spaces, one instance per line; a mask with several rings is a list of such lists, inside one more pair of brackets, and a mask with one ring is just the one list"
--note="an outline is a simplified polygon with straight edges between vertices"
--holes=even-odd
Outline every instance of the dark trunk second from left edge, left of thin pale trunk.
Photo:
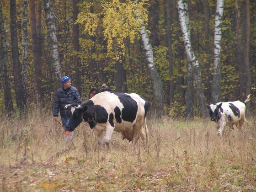
[[25,105],[24,94],[22,89],[21,63],[19,59],[19,47],[16,28],[16,0],[10,0],[10,18],[11,18],[11,53],[13,61],[13,76],[16,104],[18,108]]

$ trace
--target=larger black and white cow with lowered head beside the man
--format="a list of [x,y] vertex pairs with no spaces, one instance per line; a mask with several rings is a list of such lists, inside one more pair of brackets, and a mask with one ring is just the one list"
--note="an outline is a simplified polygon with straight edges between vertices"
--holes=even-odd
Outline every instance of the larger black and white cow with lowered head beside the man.
[[[75,108],[66,131],[74,131],[84,119],[94,129],[100,148],[104,142],[109,147],[113,131],[132,141],[133,146],[139,136],[144,144],[148,143],[145,117],[149,102],[136,93],[101,92]],[[106,131],[105,137],[103,131]]]

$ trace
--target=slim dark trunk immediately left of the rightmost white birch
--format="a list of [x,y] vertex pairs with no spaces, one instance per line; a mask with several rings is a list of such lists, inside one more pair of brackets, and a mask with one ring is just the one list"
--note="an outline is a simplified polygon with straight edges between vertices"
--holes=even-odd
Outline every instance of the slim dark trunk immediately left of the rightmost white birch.
[[[204,11],[204,47],[205,47],[205,53],[209,58],[212,53],[211,53],[211,48],[209,43],[210,9],[209,9],[208,0],[203,0],[203,11]],[[207,59],[205,67],[207,69],[210,69],[211,67],[210,59]],[[211,80],[212,80],[212,75],[210,75],[209,73],[208,78],[205,81],[205,87],[207,89],[204,91],[208,101],[211,100]]]

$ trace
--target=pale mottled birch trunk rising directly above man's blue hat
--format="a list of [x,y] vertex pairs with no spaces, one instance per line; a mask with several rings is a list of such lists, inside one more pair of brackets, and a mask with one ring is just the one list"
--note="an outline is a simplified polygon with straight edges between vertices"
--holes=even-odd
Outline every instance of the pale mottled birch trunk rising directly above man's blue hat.
[[55,77],[61,78],[61,65],[59,60],[59,47],[56,32],[56,16],[53,13],[52,0],[43,0],[44,11],[46,17],[46,25],[48,30],[48,43],[50,44],[50,53],[52,54],[53,67],[55,70]]

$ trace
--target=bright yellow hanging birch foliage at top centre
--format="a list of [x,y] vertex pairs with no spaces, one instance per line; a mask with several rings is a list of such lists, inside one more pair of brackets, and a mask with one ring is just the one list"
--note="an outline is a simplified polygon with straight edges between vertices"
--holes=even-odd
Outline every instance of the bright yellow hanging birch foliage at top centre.
[[139,38],[139,30],[141,22],[139,22],[136,14],[145,21],[148,20],[148,0],[141,0],[136,3],[130,0],[120,2],[119,0],[101,1],[102,11],[100,13],[91,13],[90,7],[93,4],[85,5],[77,23],[84,26],[84,30],[91,36],[96,36],[96,30],[99,24],[103,27],[103,36],[107,41],[107,51],[109,54],[113,51],[113,43],[116,42],[120,50],[115,59],[120,59],[118,55],[124,55],[125,40],[134,43],[134,39]]

